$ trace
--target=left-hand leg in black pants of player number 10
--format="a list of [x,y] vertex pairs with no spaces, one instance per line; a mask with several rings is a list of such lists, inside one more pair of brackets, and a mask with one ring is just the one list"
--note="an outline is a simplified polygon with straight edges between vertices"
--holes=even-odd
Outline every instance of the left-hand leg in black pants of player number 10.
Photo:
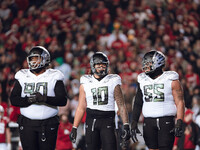
[[100,150],[100,132],[96,128],[96,119],[87,118],[85,128],[85,142],[87,150]]

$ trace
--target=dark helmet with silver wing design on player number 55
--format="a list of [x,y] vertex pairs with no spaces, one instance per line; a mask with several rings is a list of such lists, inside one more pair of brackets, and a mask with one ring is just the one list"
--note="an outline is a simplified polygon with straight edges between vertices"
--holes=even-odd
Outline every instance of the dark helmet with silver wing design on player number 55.
[[156,70],[161,70],[165,66],[165,55],[156,50],[147,52],[142,59],[142,70],[147,74],[152,74]]

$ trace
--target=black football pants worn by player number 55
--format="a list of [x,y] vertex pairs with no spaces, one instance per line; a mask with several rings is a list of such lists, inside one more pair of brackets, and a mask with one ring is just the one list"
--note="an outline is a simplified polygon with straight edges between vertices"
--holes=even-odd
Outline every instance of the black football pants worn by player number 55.
[[174,144],[174,117],[144,118],[144,141],[150,149],[171,150]]

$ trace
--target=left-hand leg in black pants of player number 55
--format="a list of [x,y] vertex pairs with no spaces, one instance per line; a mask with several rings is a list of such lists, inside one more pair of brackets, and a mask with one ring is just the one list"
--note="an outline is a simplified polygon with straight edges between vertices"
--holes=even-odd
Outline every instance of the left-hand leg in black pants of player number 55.
[[150,150],[158,149],[158,128],[156,118],[144,118],[143,137]]

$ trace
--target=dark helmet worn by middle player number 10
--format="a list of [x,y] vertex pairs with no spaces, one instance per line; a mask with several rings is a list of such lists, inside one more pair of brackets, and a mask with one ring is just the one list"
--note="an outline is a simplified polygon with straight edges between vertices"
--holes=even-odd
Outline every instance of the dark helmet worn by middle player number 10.
[[[106,69],[101,72],[97,72],[95,69],[96,64],[106,64]],[[90,59],[90,67],[93,74],[97,74],[98,76],[105,76],[108,74],[109,60],[108,57],[102,52],[96,52]]]

